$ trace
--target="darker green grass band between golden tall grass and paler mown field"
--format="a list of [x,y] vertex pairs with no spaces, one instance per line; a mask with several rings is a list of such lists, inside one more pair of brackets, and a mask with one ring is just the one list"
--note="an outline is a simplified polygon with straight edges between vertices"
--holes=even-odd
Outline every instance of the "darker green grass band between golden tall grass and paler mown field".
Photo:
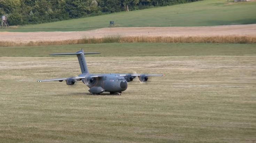
[[[0,56],[50,56],[52,53],[101,52],[86,56],[256,55],[255,44],[103,43],[55,46],[0,47]],[[63,55],[60,55],[63,56]],[[65,55],[71,56],[73,55]],[[59,56],[58,56],[59,57]]]

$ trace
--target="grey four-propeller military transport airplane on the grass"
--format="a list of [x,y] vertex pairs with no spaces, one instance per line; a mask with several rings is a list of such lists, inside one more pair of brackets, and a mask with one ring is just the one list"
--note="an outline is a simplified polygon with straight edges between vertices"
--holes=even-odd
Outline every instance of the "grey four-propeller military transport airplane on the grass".
[[121,95],[128,87],[127,82],[133,81],[138,76],[141,82],[148,81],[149,76],[164,76],[164,74],[132,74],[132,73],[104,73],[104,74],[91,74],[87,68],[85,61],[85,54],[100,54],[97,53],[84,53],[83,49],[76,53],[57,53],[49,55],[77,55],[80,65],[81,74],[78,77],[57,78],[48,80],[38,80],[37,82],[45,81],[66,81],[67,85],[74,85],[76,81],[82,81],[88,88],[92,95],[100,95],[102,92],[110,92],[110,94]]

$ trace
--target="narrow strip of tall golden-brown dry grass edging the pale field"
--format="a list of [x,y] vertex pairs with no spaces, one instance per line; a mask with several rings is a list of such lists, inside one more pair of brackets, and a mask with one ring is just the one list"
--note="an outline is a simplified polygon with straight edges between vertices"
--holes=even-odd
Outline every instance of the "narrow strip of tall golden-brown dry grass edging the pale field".
[[256,36],[225,35],[225,36],[107,36],[102,38],[81,38],[63,41],[8,42],[0,41],[0,46],[44,46],[44,45],[74,45],[97,43],[236,43],[255,44]]

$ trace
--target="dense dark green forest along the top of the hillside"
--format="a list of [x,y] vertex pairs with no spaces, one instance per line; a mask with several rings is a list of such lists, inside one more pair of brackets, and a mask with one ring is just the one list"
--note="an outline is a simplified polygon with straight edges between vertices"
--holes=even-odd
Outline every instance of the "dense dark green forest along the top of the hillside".
[[9,25],[48,23],[200,0],[0,0]]

